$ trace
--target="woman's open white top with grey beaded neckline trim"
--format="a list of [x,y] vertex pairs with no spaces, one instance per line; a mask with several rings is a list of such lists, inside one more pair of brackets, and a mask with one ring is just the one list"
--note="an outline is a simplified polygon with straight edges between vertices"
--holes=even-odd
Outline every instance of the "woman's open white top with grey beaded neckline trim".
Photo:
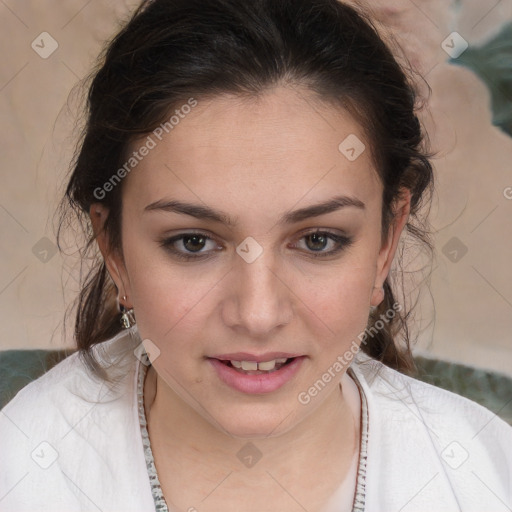
[[[117,386],[75,353],[2,409],[0,512],[155,510],[135,329],[94,347]],[[512,510],[511,426],[362,352],[351,368],[368,412],[365,512]]]

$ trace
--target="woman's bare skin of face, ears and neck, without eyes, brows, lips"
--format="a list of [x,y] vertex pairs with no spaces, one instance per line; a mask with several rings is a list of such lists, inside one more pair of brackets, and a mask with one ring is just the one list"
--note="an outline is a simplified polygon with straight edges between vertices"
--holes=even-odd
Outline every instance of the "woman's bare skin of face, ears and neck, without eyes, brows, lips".
[[[338,150],[349,134],[367,148],[353,162]],[[306,90],[215,97],[199,101],[123,182],[122,256],[109,251],[101,231],[108,210],[92,205],[119,295],[134,308],[141,338],[160,350],[146,378],[145,407],[162,489],[178,509],[320,510],[348,476],[360,416],[346,368],[309,404],[297,397],[364,331],[409,216],[406,193],[382,243],[382,185],[369,148],[347,112]],[[278,223],[340,194],[365,209]],[[236,225],[144,212],[171,198],[222,210]],[[353,243],[315,258],[318,243],[304,237],[316,229],[345,233]],[[201,249],[209,257],[181,261],[159,245],[190,230],[214,238]],[[235,251],[248,236],[263,248],[252,263]],[[187,252],[180,241],[174,247]],[[329,240],[320,252],[336,247]],[[220,381],[205,358],[236,351],[307,357],[279,390],[247,395]],[[262,453],[252,468],[236,456],[248,441]],[[348,509],[353,494],[349,488]]]

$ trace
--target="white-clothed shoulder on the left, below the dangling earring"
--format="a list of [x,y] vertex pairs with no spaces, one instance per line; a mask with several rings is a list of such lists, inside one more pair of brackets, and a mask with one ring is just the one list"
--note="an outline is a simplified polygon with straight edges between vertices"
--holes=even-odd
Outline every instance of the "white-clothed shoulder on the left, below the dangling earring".
[[[6,496],[6,511],[85,510],[90,503],[80,488],[106,503],[113,486],[129,496],[140,485],[142,450],[126,450],[140,434],[132,347],[123,332],[94,348],[113,384],[96,377],[74,353],[0,411],[0,496]],[[129,475],[126,468],[132,468]],[[127,502],[124,510],[138,504]]]

